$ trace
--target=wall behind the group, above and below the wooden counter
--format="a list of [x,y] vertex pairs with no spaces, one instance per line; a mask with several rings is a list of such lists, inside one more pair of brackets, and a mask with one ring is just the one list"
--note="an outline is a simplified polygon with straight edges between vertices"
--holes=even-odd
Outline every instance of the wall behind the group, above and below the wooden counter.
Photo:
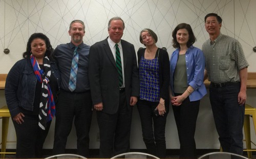
[[[125,21],[123,39],[133,43],[136,50],[143,47],[139,42],[139,32],[144,28],[150,28],[158,35],[158,47],[166,47],[170,55],[174,51],[172,31],[181,22],[191,25],[197,37],[194,45],[202,47],[202,43],[209,37],[204,28],[204,16],[210,12],[222,16],[222,33],[241,42],[250,64],[248,71],[256,72],[256,53],[252,51],[256,46],[255,6],[256,1],[250,0],[0,0],[0,74],[7,74],[12,65],[22,59],[27,40],[34,32],[46,34],[53,48],[60,43],[70,42],[68,28],[73,19],[85,22],[86,35],[83,41],[92,45],[108,36],[109,19],[120,16]],[[6,48],[10,49],[8,55],[3,53]],[[249,104],[256,103],[255,89],[247,89],[247,96]],[[4,90],[0,90],[0,106],[3,105],[6,105]],[[134,109],[132,124],[131,148],[145,148],[137,108]],[[94,114],[90,148],[99,147],[99,142],[96,142],[97,132]],[[53,133],[54,120],[44,148],[52,148]],[[252,136],[252,139],[256,140],[253,129]],[[197,148],[219,148],[208,95],[201,100],[195,138]],[[8,141],[15,141],[15,130],[11,121]],[[172,109],[166,124],[166,143],[168,149],[179,148]],[[76,135],[72,129],[67,148],[75,147]],[[8,143],[7,148],[15,148],[15,143]]]

